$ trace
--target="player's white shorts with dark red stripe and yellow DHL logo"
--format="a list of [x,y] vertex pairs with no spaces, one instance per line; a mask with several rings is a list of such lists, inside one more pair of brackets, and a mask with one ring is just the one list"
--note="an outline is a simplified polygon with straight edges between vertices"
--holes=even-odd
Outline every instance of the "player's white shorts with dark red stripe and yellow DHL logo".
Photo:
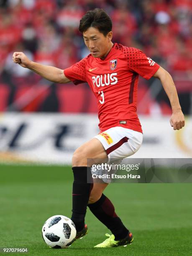
[[98,134],[94,138],[102,143],[109,159],[123,159],[138,151],[143,141],[143,133],[117,126]]

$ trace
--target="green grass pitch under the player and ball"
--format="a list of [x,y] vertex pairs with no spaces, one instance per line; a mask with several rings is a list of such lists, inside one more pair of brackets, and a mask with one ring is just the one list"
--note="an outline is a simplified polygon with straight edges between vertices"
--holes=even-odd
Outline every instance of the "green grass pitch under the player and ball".
[[51,249],[42,225],[52,215],[70,218],[71,194],[70,167],[0,165],[0,248],[28,248],[32,256],[192,255],[192,184],[110,184],[105,195],[133,243],[93,248],[109,230],[88,209],[88,235],[68,249]]

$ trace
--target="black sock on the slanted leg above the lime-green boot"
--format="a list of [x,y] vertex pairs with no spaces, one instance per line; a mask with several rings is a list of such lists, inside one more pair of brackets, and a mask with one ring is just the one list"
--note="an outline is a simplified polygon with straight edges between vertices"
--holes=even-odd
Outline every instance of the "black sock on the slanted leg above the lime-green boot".
[[115,240],[123,239],[128,235],[129,230],[116,215],[112,202],[105,195],[102,194],[97,202],[89,204],[88,207],[95,217],[111,230]]

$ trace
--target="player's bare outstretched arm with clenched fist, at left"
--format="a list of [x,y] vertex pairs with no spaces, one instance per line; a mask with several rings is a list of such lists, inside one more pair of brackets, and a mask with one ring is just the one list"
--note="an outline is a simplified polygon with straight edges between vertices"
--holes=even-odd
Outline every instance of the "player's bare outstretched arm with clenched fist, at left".
[[65,84],[71,81],[64,75],[64,71],[62,69],[31,61],[23,52],[14,52],[13,62],[19,64],[21,67],[30,69],[41,77],[44,77],[54,83]]

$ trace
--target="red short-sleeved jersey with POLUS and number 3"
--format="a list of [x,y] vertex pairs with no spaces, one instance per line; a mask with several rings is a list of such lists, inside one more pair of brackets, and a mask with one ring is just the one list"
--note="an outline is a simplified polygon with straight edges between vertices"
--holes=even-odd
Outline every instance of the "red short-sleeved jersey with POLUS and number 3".
[[136,113],[138,75],[150,79],[158,69],[142,51],[114,44],[105,59],[89,54],[64,69],[64,75],[74,84],[89,84],[97,98],[101,132],[122,126],[142,133]]

